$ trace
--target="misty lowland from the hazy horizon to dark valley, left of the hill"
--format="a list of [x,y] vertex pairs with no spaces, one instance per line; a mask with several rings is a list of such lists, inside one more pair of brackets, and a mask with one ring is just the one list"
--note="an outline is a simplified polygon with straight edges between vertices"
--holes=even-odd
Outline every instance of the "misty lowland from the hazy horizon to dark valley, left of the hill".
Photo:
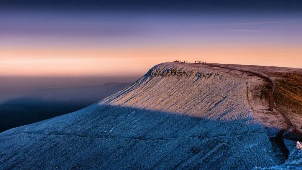
[[0,132],[71,113],[137,77],[0,77]]

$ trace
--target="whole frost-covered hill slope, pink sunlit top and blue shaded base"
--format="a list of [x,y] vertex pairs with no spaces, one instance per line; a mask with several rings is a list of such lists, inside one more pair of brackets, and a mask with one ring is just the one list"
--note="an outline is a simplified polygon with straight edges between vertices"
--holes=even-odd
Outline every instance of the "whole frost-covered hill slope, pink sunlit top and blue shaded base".
[[80,111],[0,133],[0,169],[252,169],[275,166],[246,82],[163,63]]

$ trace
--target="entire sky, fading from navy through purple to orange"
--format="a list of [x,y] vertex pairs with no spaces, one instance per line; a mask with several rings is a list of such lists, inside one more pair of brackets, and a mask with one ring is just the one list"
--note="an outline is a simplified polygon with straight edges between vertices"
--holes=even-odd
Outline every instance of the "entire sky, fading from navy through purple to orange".
[[0,76],[142,75],[173,60],[302,68],[300,1],[25,2],[0,2]]

